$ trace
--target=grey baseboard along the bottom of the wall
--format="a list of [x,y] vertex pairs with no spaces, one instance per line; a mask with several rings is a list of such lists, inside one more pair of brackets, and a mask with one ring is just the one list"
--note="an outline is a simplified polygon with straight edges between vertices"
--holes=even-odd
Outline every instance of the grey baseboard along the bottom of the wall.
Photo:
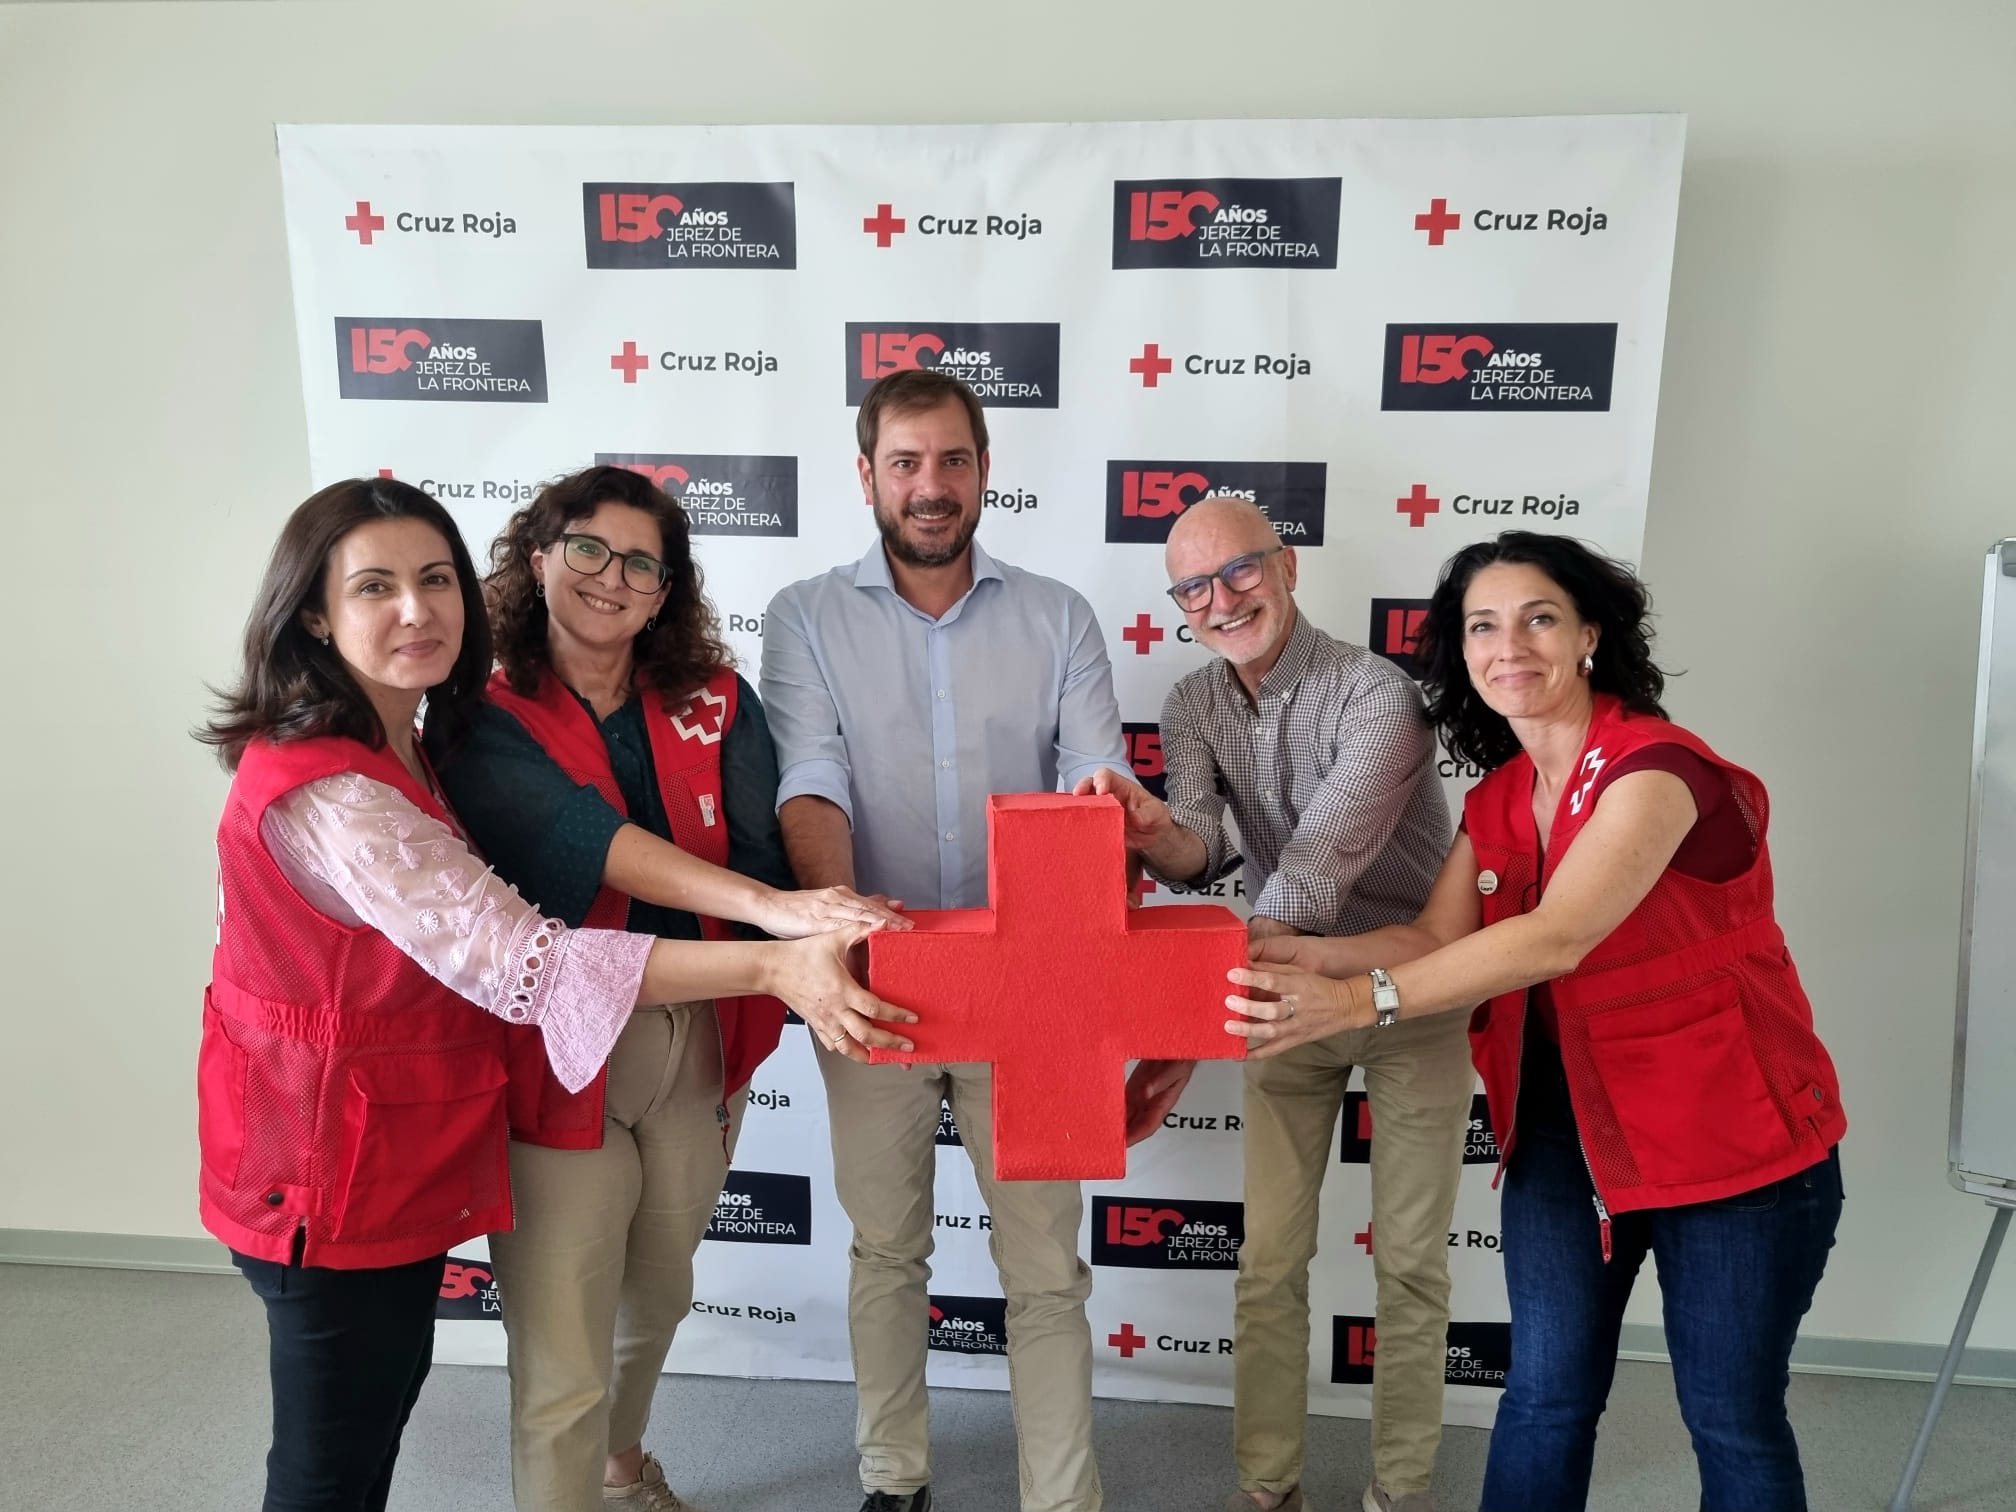
[[[165,1234],[79,1234],[42,1228],[0,1228],[0,1264],[208,1274],[236,1270],[230,1252],[216,1240],[183,1240]],[[1627,1322],[1617,1355],[1619,1359],[1663,1365],[1667,1361],[1665,1329]],[[1943,1355],[1945,1345],[1802,1335],[1792,1347],[1792,1369],[1808,1375],[1929,1381],[1937,1375]],[[2016,1387],[2016,1349],[1968,1349],[1956,1379],[1962,1385]]]

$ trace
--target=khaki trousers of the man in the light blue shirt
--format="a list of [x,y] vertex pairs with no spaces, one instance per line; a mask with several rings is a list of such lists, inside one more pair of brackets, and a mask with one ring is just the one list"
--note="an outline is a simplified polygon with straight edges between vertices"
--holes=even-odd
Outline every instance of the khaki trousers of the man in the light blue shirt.
[[952,1117],[994,1216],[988,1248],[1008,1298],[1008,1393],[1022,1512],[1099,1512],[1093,1460],[1093,1335],[1079,1258],[1077,1181],[994,1179],[994,1070],[863,1066],[818,1046],[833,1115],[833,1181],[855,1226],[847,1329],[855,1353],[855,1445],[865,1492],[931,1480],[929,1345],[937,1107]]

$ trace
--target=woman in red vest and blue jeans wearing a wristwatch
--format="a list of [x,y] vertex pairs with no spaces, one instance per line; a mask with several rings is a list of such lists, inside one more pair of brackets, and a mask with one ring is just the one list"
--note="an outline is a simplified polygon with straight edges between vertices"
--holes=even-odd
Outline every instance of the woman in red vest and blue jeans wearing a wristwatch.
[[1786,1365],[1841,1218],[1847,1119],[1772,913],[1764,784],[1665,720],[1647,603],[1566,536],[1450,558],[1427,714],[1486,776],[1427,907],[1264,941],[1232,974],[1280,994],[1230,1000],[1260,1056],[1482,1004],[1512,1298],[1484,1512],[1587,1502],[1647,1254],[1704,1512],[1806,1506]]

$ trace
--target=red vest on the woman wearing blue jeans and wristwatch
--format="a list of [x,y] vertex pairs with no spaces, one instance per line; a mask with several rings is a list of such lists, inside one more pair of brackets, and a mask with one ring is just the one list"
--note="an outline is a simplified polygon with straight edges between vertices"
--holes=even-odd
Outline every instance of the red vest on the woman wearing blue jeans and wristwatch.
[[[1550,984],[1574,1125],[1609,1212],[1750,1191],[1822,1159],[1849,1127],[1835,1064],[1812,1032],[1812,1004],[1772,915],[1764,784],[1687,730],[1599,696],[1544,867],[1532,760],[1522,752],[1472,788],[1464,825],[1480,883],[1496,875],[1484,923],[1536,905],[1595,810],[1587,798],[1597,774],[1655,744],[1683,746],[1728,774],[1758,853],[1726,883],[1667,867],[1631,915]],[[1518,1135],[1524,1030],[1524,988],[1492,998],[1470,1020],[1502,1161],[1512,1159]]]

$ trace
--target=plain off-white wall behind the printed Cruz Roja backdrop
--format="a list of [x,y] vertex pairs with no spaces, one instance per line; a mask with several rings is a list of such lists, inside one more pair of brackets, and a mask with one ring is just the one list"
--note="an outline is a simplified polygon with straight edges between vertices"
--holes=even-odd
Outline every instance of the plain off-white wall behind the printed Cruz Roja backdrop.
[[[1855,1123],[1808,1331],[1943,1339],[1986,1226],[1943,1179],[1976,583],[2016,534],[1994,0],[0,6],[0,1228],[200,1232],[224,778],[183,732],[306,492],[274,121],[1583,111],[1691,117],[1645,571],[1677,716],[1772,786]],[[2016,1276],[1976,1343],[2016,1347]]]

